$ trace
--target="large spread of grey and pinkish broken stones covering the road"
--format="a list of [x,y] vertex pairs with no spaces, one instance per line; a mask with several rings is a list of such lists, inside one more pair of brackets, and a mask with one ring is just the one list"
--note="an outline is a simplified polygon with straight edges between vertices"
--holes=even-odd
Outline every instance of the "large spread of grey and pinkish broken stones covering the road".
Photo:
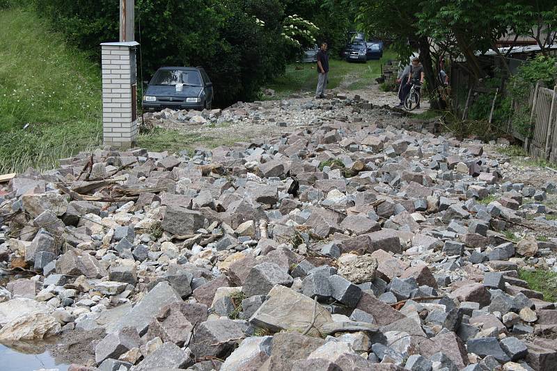
[[503,233],[555,225],[554,192],[386,122],[66,158],[0,188],[0,340],[104,330],[73,370],[556,370],[518,271],[557,240]]

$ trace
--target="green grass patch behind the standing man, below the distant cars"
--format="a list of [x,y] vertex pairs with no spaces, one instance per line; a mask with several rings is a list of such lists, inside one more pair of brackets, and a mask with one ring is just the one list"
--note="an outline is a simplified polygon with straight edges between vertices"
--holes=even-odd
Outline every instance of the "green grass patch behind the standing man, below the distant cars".
[[[385,51],[382,60],[368,60],[367,63],[349,63],[345,60],[329,60],[329,83],[327,89],[338,88],[347,79],[352,81],[347,89],[356,90],[375,84],[381,75],[381,63],[395,59],[395,53]],[[270,99],[281,99],[293,93],[315,92],[317,86],[317,70],[315,63],[295,63],[286,67],[283,76],[278,77],[266,88],[276,92]],[[268,98],[267,98],[268,99]]]

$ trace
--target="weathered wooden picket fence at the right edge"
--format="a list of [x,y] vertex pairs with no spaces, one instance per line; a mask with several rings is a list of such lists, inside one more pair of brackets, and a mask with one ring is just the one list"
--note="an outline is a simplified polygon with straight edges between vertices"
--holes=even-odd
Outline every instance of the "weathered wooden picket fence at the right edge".
[[[526,105],[526,106],[525,106]],[[526,110],[524,108],[527,108]],[[531,88],[530,94],[521,99],[513,99],[513,112],[508,129],[515,138],[524,140],[524,149],[535,157],[546,160],[557,160],[557,86],[554,89],[544,88],[537,83]],[[533,129],[524,138],[516,131],[518,115],[529,114]],[[524,117],[521,119],[524,120]]]

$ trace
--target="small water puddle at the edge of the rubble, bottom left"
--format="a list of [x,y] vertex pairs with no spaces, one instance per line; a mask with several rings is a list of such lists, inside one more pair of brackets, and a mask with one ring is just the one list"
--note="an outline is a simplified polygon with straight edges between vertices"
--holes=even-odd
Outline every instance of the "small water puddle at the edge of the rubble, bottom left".
[[14,347],[0,344],[0,370],[2,371],[67,371],[70,365],[58,363],[45,351],[45,347],[18,343]]

